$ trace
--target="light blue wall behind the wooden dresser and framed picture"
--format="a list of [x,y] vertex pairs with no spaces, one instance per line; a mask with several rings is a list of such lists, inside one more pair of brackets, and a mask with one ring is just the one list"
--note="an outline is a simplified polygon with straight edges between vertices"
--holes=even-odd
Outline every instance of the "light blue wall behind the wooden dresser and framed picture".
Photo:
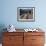
[[[46,0],[0,0],[0,25],[16,28],[46,28]],[[17,7],[35,7],[35,22],[18,22]]]

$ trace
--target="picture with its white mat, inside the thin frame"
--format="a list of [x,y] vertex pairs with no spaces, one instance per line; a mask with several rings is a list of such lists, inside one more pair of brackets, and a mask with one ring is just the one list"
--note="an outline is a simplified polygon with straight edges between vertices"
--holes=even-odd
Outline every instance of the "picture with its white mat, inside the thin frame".
[[19,7],[18,17],[22,21],[34,20],[34,7]]

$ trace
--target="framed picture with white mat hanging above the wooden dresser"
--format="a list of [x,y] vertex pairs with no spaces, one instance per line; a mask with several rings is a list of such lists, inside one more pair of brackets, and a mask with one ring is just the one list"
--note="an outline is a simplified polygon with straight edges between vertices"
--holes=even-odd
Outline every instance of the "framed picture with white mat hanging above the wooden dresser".
[[18,7],[17,20],[22,22],[34,22],[35,7]]

